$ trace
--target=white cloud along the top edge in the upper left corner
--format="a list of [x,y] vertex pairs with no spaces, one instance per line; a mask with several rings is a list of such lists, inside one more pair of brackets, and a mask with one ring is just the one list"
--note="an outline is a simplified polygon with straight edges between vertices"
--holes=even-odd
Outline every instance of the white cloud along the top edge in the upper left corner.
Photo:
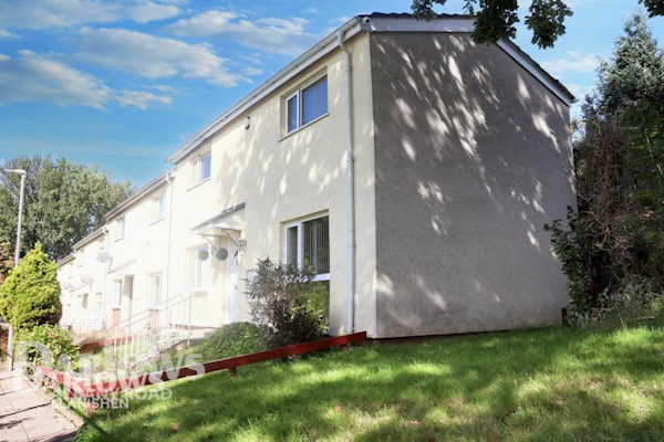
[[146,0],[0,0],[0,28],[69,28],[126,19],[146,23],[172,18],[179,12],[176,6]]

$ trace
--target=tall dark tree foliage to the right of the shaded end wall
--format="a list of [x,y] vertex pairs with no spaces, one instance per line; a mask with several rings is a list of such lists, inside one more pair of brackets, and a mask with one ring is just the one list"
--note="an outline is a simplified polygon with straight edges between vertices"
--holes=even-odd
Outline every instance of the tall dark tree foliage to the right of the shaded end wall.
[[601,65],[574,146],[579,212],[551,227],[578,313],[664,284],[664,54],[636,14]]

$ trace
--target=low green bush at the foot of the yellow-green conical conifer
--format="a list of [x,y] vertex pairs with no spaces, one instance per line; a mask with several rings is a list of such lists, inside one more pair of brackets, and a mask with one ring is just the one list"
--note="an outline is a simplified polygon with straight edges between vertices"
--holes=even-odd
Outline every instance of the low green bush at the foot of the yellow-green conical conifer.
[[32,366],[64,371],[74,369],[79,361],[79,347],[72,344],[71,332],[50,324],[20,329],[15,348],[19,361]]

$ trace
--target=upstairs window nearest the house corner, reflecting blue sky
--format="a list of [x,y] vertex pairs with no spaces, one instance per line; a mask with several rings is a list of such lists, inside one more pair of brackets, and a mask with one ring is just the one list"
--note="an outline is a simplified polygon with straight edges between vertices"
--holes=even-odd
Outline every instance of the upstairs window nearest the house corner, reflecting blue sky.
[[307,126],[326,113],[328,76],[323,76],[286,99],[286,133]]

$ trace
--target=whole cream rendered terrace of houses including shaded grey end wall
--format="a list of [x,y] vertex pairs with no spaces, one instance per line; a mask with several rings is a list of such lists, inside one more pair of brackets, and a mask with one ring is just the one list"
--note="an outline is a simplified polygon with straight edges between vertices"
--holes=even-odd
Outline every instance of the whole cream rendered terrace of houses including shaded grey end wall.
[[110,328],[170,299],[190,306],[172,320],[247,320],[267,256],[315,267],[333,335],[559,323],[567,280],[542,227],[574,204],[574,98],[471,30],[374,13],[328,35],[59,263],[63,323]]

